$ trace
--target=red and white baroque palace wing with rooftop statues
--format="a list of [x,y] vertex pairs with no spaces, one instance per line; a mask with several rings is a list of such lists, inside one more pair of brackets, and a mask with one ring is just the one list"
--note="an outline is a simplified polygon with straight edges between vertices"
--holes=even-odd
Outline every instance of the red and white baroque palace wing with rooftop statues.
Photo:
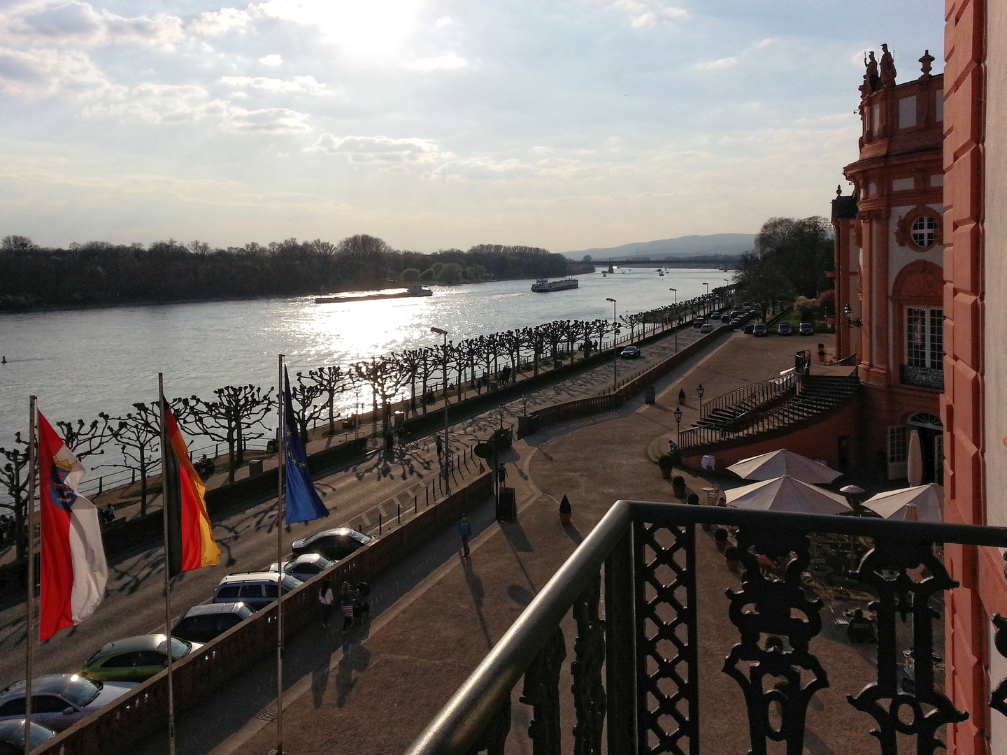
[[861,464],[904,478],[918,430],[923,481],[941,482],[944,76],[930,73],[926,52],[915,78],[897,84],[882,48],[860,87],[860,156],[844,169],[853,193],[833,201],[838,355],[856,355],[863,385]]

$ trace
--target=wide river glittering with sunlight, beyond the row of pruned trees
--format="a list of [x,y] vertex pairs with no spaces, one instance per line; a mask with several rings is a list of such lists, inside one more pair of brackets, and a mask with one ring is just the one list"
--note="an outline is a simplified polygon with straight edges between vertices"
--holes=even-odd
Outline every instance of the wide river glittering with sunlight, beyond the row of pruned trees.
[[[622,273],[622,270],[625,272]],[[0,315],[0,445],[25,433],[28,397],[56,420],[100,412],[116,416],[157,398],[157,373],[170,397],[212,398],[226,385],[276,385],[278,353],[291,375],[325,364],[538,325],[593,320],[683,301],[723,286],[730,273],[710,269],[624,268],[579,277],[580,288],[533,294],[532,281],[435,286],[425,298],[315,304],[314,297],[158,304]],[[351,410],[352,395],[343,409]]]

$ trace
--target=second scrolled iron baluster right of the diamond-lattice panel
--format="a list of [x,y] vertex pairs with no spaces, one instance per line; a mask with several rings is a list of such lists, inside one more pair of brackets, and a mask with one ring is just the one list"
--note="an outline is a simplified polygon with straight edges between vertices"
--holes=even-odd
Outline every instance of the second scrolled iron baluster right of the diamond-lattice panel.
[[[926,567],[930,576],[913,582],[906,572],[920,565]],[[958,587],[958,582],[933,556],[932,543],[880,538],[875,540],[874,549],[864,556],[855,576],[870,585],[880,597],[870,606],[877,614],[878,680],[856,697],[847,696],[847,700],[877,722],[879,730],[872,731],[871,735],[877,738],[883,755],[898,752],[896,734],[915,736],[919,755],[932,753],[945,746],[934,736],[940,727],[969,718],[969,714],[956,709],[933,686],[932,620],[940,614],[930,608],[929,601],[934,594]],[[896,613],[901,614],[902,621],[912,616],[911,691],[900,688],[898,683],[898,660],[902,653],[895,640]],[[911,714],[908,721],[905,713]]]

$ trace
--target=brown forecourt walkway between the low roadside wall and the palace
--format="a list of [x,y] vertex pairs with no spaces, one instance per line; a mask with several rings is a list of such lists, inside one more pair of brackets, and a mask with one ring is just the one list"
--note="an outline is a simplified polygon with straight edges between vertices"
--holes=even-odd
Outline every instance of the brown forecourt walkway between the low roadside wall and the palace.
[[[642,404],[640,398],[617,411],[551,426],[518,442],[507,463],[508,484],[518,492],[517,521],[497,522],[491,518],[491,506],[483,506],[474,512],[477,535],[470,559],[460,558],[457,538],[446,533],[418,555],[420,563],[410,560],[413,563],[389,576],[388,584],[383,579],[376,586],[376,610],[370,623],[353,627],[345,636],[338,622],[332,622],[327,631],[312,627],[288,645],[285,751],[297,755],[401,753],[615,499],[674,499],[669,481],[661,478],[648,449],[652,441],[674,432],[672,411],[680,388],[689,396],[685,409],[696,411],[695,388],[700,383],[711,398],[744,383],[768,379],[793,365],[794,351],[807,348],[806,343],[798,338],[753,339],[734,334],[667,375],[658,386],[654,406]],[[688,426],[685,419],[683,426]],[[688,475],[687,481],[696,490],[709,484],[708,478],[695,475]],[[732,484],[722,478],[716,483]],[[557,516],[564,494],[574,511],[574,524],[567,527],[559,524]],[[446,560],[438,562],[444,554]],[[727,727],[711,713],[742,705],[736,685],[719,670],[736,641],[723,595],[737,580],[726,571],[709,539],[699,539],[698,558],[701,600],[710,601],[708,610],[700,606],[701,685],[707,712],[703,736],[706,745],[712,745],[711,752],[744,751],[745,729]],[[425,567],[434,568],[424,571],[429,573],[422,580],[414,576],[416,584],[409,586],[410,573]],[[575,632],[570,626],[564,630],[570,652]],[[859,689],[861,678],[870,677],[871,664],[861,650],[834,632],[824,632],[815,640],[814,649],[830,669],[833,687],[813,703],[809,751],[815,755],[844,752],[850,727],[863,728],[866,722],[842,696]],[[275,703],[275,694],[269,692],[275,691],[275,676],[270,677],[268,665],[236,680],[220,701],[183,717],[178,724],[179,752],[259,755],[274,749],[275,724],[255,718],[251,709],[240,712],[233,700],[252,694],[259,696],[263,707]],[[564,674],[561,689],[569,689],[568,668]],[[514,752],[526,751],[521,732],[527,729],[529,711],[517,704],[520,692],[519,686],[509,744]],[[240,713],[246,716],[244,725],[237,720]],[[565,736],[571,725],[564,724]],[[227,732],[232,733],[225,736]],[[206,746],[207,740],[215,746]],[[160,743],[151,742],[141,752],[162,751]]]

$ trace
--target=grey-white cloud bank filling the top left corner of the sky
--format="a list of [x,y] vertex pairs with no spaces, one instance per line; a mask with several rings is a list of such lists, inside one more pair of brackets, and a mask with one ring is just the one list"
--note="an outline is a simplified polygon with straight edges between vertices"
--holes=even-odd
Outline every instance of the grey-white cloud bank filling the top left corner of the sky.
[[11,44],[132,44],[170,50],[183,36],[177,16],[155,13],[126,17],[79,0],[28,3],[0,19],[0,40]]

